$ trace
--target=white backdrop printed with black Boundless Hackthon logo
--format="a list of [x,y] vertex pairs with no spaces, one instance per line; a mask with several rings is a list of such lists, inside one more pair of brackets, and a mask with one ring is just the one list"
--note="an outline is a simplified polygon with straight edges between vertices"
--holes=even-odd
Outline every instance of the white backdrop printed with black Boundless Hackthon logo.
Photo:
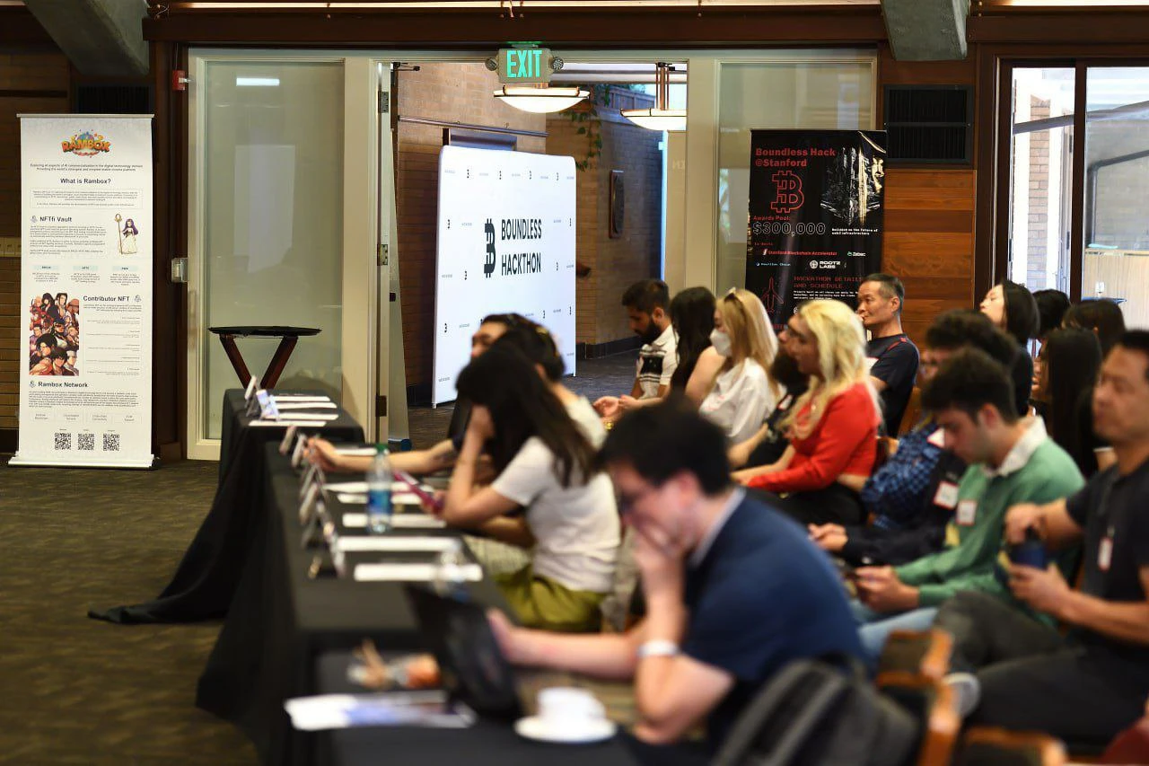
[[434,404],[455,398],[488,314],[545,325],[574,371],[574,160],[445,146],[439,158]]

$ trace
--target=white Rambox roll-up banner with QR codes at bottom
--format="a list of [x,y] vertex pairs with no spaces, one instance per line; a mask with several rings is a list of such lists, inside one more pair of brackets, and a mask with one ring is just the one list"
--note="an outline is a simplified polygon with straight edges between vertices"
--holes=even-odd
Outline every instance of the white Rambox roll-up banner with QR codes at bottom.
[[152,116],[20,115],[13,465],[152,457]]

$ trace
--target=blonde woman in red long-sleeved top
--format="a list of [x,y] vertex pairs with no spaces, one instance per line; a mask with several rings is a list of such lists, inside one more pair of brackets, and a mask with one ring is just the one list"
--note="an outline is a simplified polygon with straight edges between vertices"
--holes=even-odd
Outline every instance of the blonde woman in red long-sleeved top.
[[770,466],[734,477],[774,493],[770,501],[804,523],[861,523],[865,513],[850,482],[861,487],[870,476],[880,422],[862,325],[841,301],[810,300],[789,319],[782,343],[810,376],[781,422],[791,444]]

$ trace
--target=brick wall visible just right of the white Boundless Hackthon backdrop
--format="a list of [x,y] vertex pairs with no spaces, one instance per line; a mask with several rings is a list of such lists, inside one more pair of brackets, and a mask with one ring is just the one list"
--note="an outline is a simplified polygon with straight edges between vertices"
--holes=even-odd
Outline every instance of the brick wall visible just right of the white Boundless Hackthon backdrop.
[[[626,101],[625,104],[623,101]],[[619,108],[653,106],[653,99],[612,91],[611,106],[597,106],[594,130],[602,151],[578,174],[578,260],[591,274],[578,279],[577,342],[603,344],[633,336],[619,304],[632,283],[658,276],[662,256],[662,133],[634,125]],[[587,156],[587,136],[565,114],[547,121],[547,153],[577,161]],[[610,238],[610,174],[623,171],[623,233]]]

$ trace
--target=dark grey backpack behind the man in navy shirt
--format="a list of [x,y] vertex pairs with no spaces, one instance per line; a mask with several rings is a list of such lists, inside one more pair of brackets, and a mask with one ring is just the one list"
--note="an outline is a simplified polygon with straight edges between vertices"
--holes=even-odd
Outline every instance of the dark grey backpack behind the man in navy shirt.
[[731,728],[714,766],[904,766],[919,725],[856,664],[795,660],[770,679]]

